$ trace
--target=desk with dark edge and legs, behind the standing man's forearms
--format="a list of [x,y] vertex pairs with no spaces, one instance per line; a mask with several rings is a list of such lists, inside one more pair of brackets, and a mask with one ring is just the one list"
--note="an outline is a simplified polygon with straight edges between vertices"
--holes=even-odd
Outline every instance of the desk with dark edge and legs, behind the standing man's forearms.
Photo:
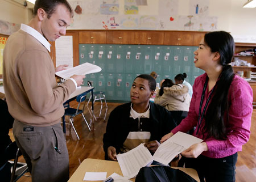
[[[71,95],[69,95],[69,98],[67,101],[65,101],[64,103],[64,107],[65,104],[69,104],[70,101],[75,100],[77,95],[80,95],[82,93],[88,94],[89,92],[92,94],[92,98],[93,98],[93,89],[94,87],[78,87]],[[93,113],[93,99],[92,99],[92,113]],[[94,115],[94,113],[93,113]],[[65,115],[62,117],[62,122],[63,122],[63,133],[64,135],[66,134],[66,125],[65,125]]]

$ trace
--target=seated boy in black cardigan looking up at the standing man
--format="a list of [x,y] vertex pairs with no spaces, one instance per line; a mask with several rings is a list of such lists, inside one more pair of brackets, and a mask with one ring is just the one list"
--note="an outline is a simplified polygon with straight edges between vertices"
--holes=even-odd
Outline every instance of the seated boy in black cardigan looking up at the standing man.
[[131,86],[131,102],[119,105],[110,113],[103,137],[105,159],[117,160],[118,153],[141,143],[154,153],[160,145],[159,139],[176,126],[167,109],[149,101],[155,87],[154,78],[139,75]]

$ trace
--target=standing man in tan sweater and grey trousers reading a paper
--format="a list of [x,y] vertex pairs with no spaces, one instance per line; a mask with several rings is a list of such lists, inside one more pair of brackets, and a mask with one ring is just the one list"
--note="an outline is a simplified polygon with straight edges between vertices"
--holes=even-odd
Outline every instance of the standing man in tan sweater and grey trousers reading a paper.
[[63,103],[82,84],[73,75],[57,86],[49,56],[50,44],[65,35],[73,11],[66,0],[37,0],[28,25],[7,40],[3,52],[3,84],[13,133],[32,175],[32,181],[67,181],[69,160],[60,125]]

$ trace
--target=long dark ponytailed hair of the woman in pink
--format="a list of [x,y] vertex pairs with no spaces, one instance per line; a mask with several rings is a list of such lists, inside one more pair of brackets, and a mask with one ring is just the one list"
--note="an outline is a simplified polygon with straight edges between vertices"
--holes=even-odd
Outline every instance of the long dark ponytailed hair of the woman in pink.
[[228,32],[218,31],[206,33],[204,43],[209,46],[212,52],[220,53],[220,64],[223,66],[214,87],[212,101],[205,114],[204,131],[208,133],[207,137],[226,139],[225,121],[228,122],[229,119],[228,92],[234,78],[234,72],[229,63],[234,54],[234,40]]

